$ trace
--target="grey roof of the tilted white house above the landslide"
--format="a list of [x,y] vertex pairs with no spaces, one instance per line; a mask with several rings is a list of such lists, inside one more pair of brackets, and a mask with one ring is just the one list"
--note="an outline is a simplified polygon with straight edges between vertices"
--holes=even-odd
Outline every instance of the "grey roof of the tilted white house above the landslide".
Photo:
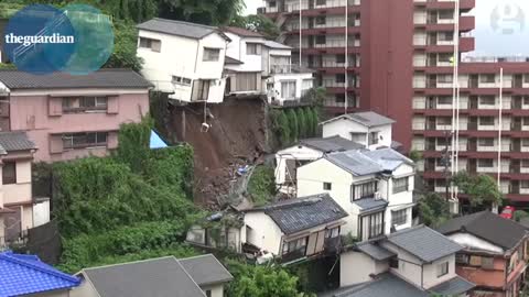
[[[154,18],[137,25],[138,29],[201,40],[212,33],[220,32],[215,26]],[[224,36],[224,34],[222,34]]]

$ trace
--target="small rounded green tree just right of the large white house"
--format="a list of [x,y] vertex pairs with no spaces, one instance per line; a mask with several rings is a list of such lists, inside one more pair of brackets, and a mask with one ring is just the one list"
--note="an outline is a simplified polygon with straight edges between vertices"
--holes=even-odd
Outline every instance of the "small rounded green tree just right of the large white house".
[[450,204],[436,193],[429,193],[419,201],[419,217],[429,227],[438,227],[451,218]]

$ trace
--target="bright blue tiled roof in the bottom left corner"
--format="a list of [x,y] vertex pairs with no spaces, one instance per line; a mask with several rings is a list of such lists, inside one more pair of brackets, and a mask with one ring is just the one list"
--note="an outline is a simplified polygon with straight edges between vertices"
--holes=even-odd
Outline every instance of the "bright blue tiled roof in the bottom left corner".
[[55,270],[37,256],[0,253],[0,297],[68,289],[79,284],[77,277]]

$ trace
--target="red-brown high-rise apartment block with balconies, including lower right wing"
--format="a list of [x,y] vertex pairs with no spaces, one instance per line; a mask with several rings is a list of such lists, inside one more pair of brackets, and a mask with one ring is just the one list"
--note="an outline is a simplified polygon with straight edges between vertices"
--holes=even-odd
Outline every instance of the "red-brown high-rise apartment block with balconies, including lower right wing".
[[499,177],[510,204],[529,202],[529,61],[465,57],[475,50],[475,0],[264,2],[259,12],[281,28],[279,38],[317,70],[327,111],[373,110],[396,120],[395,140],[423,153],[418,166],[430,190],[445,191],[449,150],[457,152],[454,170]]

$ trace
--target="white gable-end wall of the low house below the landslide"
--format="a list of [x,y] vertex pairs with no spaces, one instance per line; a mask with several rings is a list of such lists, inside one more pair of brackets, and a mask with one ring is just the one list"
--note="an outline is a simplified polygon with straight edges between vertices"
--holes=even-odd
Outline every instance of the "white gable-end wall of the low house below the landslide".
[[268,215],[257,211],[248,212],[245,215],[245,226],[247,231],[246,242],[274,255],[280,254],[283,233]]

